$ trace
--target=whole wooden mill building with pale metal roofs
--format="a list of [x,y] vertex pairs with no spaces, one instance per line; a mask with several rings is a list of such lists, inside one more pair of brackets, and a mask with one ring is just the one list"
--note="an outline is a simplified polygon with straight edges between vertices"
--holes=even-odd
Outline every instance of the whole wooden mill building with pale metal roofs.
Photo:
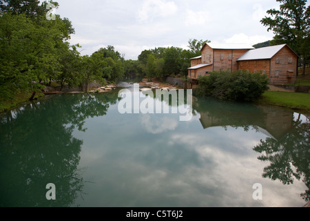
[[189,79],[197,80],[212,71],[248,70],[268,75],[270,84],[294,84],[298,55],[287,44],[255,49],[252,46],[207,43],[201,56],[191,59]]

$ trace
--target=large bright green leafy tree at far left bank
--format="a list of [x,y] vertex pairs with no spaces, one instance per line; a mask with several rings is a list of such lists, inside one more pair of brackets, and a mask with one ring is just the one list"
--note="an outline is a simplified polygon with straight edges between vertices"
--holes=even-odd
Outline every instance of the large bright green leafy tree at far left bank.
[[68,39],[59,17],[34,22],[25,14],[4,13],[0,17],[0,93],[2,99],[32,90],[32,99],[41,83],[60,71],[59,48]]

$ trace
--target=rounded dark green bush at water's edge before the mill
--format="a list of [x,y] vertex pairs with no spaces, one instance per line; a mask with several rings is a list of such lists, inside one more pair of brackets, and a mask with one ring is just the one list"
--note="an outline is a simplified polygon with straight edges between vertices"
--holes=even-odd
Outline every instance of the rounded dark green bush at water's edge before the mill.
[[269,79],[261,73],[238,70],[213,72],[199,78],[198,96],[216,97],[238,102],[254,102],[268,90]]

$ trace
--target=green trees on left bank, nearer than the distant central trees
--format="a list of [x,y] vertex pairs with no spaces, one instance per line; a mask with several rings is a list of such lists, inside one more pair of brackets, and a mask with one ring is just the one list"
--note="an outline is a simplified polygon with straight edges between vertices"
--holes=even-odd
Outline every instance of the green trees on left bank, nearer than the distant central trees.
[[81,56],[79,44],[70,45],[74,28],[68,18],[48,19],[54,1],[0,1],[0,102],[18,93],[32,92],[30,99],[57,81],[61,86],[104,83],[121,79],[124,58],[113,46]]

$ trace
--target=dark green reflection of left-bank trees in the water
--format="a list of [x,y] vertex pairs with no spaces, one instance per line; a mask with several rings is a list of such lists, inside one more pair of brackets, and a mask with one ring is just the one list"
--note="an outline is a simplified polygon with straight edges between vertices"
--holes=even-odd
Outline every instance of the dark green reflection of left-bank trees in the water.
[[[61,95],[10,111],[0,122],[0,206],[70,206],[82,194],[82,140],[87,117],[102,116],[117,95]],[[56,200],[45,198],[46,184]]]

